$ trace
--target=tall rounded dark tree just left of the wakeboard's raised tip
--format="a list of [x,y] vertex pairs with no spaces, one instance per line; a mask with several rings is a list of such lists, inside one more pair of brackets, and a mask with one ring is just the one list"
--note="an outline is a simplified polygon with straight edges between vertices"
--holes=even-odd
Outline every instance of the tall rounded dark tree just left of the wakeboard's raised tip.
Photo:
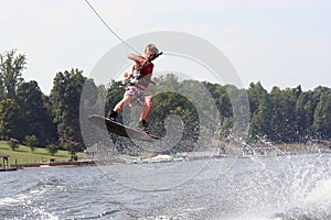
[[85,148],[79,128],[79,100],[86,80],[82,73],[78,69],[57,73],[50,96],[60,146],[71,154]]

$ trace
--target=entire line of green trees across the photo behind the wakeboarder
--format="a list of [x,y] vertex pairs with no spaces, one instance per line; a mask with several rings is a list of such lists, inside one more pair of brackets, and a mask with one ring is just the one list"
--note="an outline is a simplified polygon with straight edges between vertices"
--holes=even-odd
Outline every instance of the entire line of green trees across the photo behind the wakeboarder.
[[[51,94],[46,96],[36,81],[24,81],[22,72],[25,65],[25,55],[17,54],[14,50],[0,54],[0,139],[15,139],[21,143],[32,139],[39,146],[64,148],[72,154],[93,144],[93,138],[88,139],[90,143],[83,141],[79,124],[82,105],[84,111],[104,108],[103,112],[107,113],[122,97],[122,81],[111,81],[109,88],[96,86],[93,79],[83,76],[82,70],[73,68],[56,74]],[[300,86],[287,89],[274,87],[268,92],[260,82],[250,84],[248,89],[237,89],[207,81],[181,80],[171,74],[153,80],[157,86],[150,88],[154,95],[149,119],[151,130],[164,135],[164,120],[170,114],[178,116],[184,127],[182,144],[177,146],[179,151],[189,151],[200,133],[205,131],[211,132],[214,139],[227,140],[234,131],[234,117],[247,113],[249,124],[243,131],[249,142],[331,140],[330,88],[302,91]],[[212,101],[202,96],[206,91],[201,87],[206,88]],[[243,100],[247,95],[248,105],[245,106]],[[234,102],[243,103],[236,114]],[[216,106],[220,114],[206,108],[212,105]],[[200,109],[206,116],[203,123]],[[139,114],[141,109],[130,108],[129,111]],[[215,117],[220,121],[217,125],[207,123],[215,121]]]

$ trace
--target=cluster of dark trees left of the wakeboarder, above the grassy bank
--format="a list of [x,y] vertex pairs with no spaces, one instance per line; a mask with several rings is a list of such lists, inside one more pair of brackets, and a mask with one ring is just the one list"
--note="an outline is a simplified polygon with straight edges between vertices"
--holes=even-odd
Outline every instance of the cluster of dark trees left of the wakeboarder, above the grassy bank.
[[24,81],[26,57],[15,50],[0,54],[0,140],[72,154],[85,148],[79,130],[82,70],[57,73],[50,96],[34,80]]

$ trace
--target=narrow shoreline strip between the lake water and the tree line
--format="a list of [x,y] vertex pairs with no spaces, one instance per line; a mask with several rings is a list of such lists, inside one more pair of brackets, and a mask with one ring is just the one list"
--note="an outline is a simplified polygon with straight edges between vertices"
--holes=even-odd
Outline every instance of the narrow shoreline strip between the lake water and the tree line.
[[[238,158],[247,158],[247,157],[268,157],[268,156],[289,156],[289,155],[303,155],[303,154],[330,154],[330,146],[321,146],[321,145],[305,145],[305,144],[278,144],[273,147],[268,147],[269,150],[277,150],[276,152],[266,152],[264,146],[255,146],[254,152],[246,151],[243,152],[242,155],[236,155]],[[105,165],[111,164],[143,164],[143,163],[171,163],[171,162],[185,162],[185,161],[195,161],[195,160],[207,160],[207,158],[226,158],[235,155],[222,154],[221,152],[192,152],[190,153],[178,153],[175,155],[154,155],[152,157],[139,158],[135,156],[121,155],[116,158],[109,158],[105,163]],[[197,154],[196,154],[197,153]],[[200,154],[202,153],[202,154]],[[207,153],[207,154],[205,154]],[[253,153],[253,154],[252,154]],[[276,154],[275,154],[276,153]],[[47,167],[83,167],[83,166],[98,166],[104,163],[98,161],[97,158],[88,158],[81,161],[55,161],[55,162],[41,162],[41,163],[24,163],[24,164],[10,164],[7,167],[0,167],[0,172],[10,172],[17,169],[33,169],[33,168],[47,168]]]

